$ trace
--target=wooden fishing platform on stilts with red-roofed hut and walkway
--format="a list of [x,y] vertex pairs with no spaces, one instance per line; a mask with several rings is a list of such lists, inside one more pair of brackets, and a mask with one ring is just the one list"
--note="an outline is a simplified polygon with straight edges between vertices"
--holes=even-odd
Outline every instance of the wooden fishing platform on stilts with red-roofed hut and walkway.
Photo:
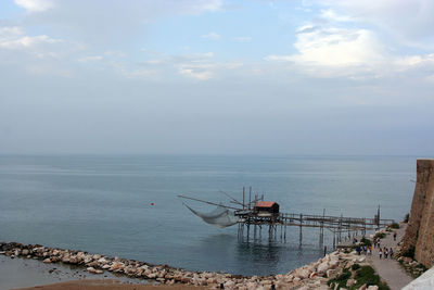
[[277,239],[280,236],[280,239],[286,240],[286,228],[298,227],[299,244],[302,244],[303,228],[319,228],[319,244],[322,247],[324,229],[328,229],[333,234],[333,248],[335,248],[336,243],[343,241],[343,238],[352,238],[358,234],[365,236],[368,230],[378,230],[394,223],[394,219],[380,218],[380,206],[373,218],[331,216],[326,215],[326,210],[323,210],[322,215],[281,213],[279,204],[264,201],[264,196],[259,198],[256,194],[252,200],[252,187],[250,188],[248,202],[245,201],[245,188],[243,188],[242,202],[226,192],[222,193],[231,200],[230,203],[234,203],[238,206],[217,204],[184,196],[179,197],[233,210],[234,215],[239,217],[238,236],[239,238],[245,237],[247,240],[251,236],[254,239],[260,236],[263,227],[268,227],[270,238]]

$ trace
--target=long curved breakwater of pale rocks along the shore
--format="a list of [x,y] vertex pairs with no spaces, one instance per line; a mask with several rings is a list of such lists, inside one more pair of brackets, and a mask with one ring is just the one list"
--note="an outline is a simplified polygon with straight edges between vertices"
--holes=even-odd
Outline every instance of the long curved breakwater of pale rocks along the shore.
[[144,262],[91,254],[85,251],[48,248],[39,244],[1,242],[0,254],[10,257],[40,260],[43,263],[64,263],[84,267],[92,274],[105,270],[128,277],[155,280],[161,283],[184,283],[218,289],[329,289],[328,281],[342,274],[354,263],[363,263],[365,257],[353,253],[333,252],[304,267],[288,274],[272,276],[241,276],[222,273],[189,272],[167,265],[151,265]]

